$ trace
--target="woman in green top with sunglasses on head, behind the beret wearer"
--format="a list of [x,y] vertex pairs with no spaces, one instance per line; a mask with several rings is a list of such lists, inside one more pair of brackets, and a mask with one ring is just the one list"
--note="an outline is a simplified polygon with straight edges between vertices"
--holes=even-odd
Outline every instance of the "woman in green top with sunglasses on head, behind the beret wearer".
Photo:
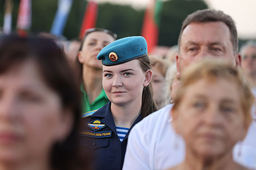
[[87,29],[84,34],[75,65],[81,84],[83,113],[99,109],[109,101],[102,89],[102,67],[96,56],[115,39],[117,34],[102,28]]

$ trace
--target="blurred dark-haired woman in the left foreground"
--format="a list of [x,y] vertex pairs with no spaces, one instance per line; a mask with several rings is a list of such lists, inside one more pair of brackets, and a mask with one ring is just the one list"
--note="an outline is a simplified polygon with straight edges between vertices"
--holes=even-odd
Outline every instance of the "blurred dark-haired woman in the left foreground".
[[64,52],[39,37],[0,37],[0,169],[87,169],[80,92]]

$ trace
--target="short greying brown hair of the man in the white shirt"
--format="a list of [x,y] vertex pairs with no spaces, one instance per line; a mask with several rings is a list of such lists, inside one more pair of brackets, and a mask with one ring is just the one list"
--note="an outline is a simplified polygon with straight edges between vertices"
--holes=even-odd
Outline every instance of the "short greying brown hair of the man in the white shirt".
[[233,18],[231,18],[229,15],[224,14],[223,11],[220,10],[214,10],[214,9],[204,9],[204,10],[197,10],[196,12],[193,12],[192,14],[188,15],[187,18],[183,21],[178,45],[180,48],[180,41],[181,36],[184,31],[184,29],[193,22],[223,22],[225,23],[229,30],[230,30],[230,41],[233,45],[233,51],[234,54],[238,53],[238,39],[237,39],[237,31],[235,26],[235,21]]

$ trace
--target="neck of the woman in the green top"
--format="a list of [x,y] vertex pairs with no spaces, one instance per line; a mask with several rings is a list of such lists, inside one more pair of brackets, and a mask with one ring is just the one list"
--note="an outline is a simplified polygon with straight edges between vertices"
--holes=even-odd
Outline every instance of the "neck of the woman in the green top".
[[102,70],[83,66],[83,87],[90,103],[93,103],[102,90]]

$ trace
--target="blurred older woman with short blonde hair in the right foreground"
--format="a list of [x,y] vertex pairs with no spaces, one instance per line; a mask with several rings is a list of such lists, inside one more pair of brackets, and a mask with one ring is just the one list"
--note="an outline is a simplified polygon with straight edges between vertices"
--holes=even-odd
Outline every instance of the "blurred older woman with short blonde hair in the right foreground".
[[204,60],[181,75],[172,108],[172,125],[186,143],[184,162],[176,169],[247,169],[232,150],[252,122],[254,97],[239,68]]

